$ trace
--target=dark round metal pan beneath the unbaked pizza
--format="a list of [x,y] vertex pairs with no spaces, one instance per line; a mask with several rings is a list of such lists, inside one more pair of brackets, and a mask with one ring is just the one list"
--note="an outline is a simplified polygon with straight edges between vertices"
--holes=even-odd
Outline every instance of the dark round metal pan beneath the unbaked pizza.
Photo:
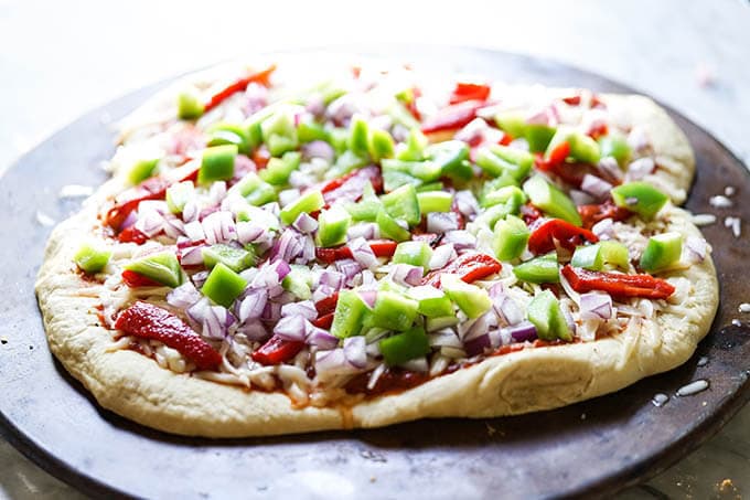
[[[409,47],[389,53],[507,81],[629,91],[594,74],[513,54]],[[221,442],[169,436],[99,408],[45,345],[33,281],[51,230],[36,222],[36,212],[60,221],[77,209],[78,202],[61,201],[57,192],[65,184],[105,180],[98,163],[111,156],[114,137],[103,119],[124,116],[159,86],[87,114],[0,179],[0,432],[76,488],[94,496],[152,498],[603,497],[664,470],[748,401],[750,330],[731,320],[738,304],[750,298],[750,280],[741,273],[750,245],[719,222],[704,230],[721,284],[711,332],[679,369],[615,394],[513,418]],[[708,132],[671,114],[698,163],[687,206],[716,212],[708,199],[725,185],[746,199],[750,178],[741,162]],[[729,214],[750,221],[750,204],[719,213],[720,220]],[[707,364],[699,365],[701,357]],[[675,396],[697,379],[709,381],[710,389]],[[656,393],[668,394],[669,402],[654,406]]]

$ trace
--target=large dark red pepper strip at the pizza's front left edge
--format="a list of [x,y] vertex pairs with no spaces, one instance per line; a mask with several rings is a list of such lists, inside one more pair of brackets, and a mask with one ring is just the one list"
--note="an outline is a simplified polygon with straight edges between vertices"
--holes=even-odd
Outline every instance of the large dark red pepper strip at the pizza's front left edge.
[[222,354],[173,313],[152,304],[138,301],[120,312],[115,328],[141,339],[154,339],[195,363],[200,370],[215,369]]

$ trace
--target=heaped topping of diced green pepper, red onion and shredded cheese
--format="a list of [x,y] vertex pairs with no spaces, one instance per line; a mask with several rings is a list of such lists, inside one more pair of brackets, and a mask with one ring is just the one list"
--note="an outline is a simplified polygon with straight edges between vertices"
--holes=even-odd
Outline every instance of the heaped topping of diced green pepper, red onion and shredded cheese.
[[518,110],[489,105],[489,85],[435,99],[377,78],[292,96],[260,78],[227,98],[240,81],[211,106],[180,97],[180,116],[201,119],[164,123],[154,142],[189,125],[190,152],[152,161],[136,141],[131,157],[152,168],[128,163],[140,184],[103,214],[140,245],[101,267],[125,289],[107,310],[165,302],[217,347],[222,380],[247,385],[276,366],[286,389],[297,382],[281,369],[294,368],[304,391],[375,394],[617,334],[649,310],[641,298],[686,294],[633,273],[683,268],[708,248],[663,234],[664,194],[621,184],[653,159],[603,108],[581,115],[588,95]]

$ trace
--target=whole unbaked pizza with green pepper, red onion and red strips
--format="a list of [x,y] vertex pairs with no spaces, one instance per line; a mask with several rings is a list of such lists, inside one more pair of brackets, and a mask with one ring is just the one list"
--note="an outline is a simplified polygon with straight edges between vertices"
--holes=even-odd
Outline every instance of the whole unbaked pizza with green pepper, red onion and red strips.
[[231,64],[119,134],[36,292],[64,366],[161,430],[555,408],[685,362],[716,311],[692,149],[642,96]]

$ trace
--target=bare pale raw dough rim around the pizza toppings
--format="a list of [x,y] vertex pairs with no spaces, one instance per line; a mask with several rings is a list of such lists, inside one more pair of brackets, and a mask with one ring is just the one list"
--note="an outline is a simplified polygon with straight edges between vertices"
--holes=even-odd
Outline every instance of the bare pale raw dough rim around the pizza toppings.
[[[645,97],[602,98],[608,106],[629,113],[649,131],[657,163],[664,169],[647,180],[668,188],[673,200],[682,202],[695,168],[682,131]],[[144,109],[165,106],[164,100],[157,99]],[[138,130],[142,129],[127,135],[132,137]],[[136,351],[113,348],[111,331],[103,327],[99,316],[104,285],[84,279],[73,257],[82,242],[100,234],[97,214],[122,189],[121,175],[116,175],[87,200],[81,213],[54,230],[36,294],[50,348],[66,370],[105,408],[168,433],[279,435],[555,408],[618,391],[684,363],[708,331],[718,305],[716,270],[708,256],[669,274],[668,279],[677,284],[675,297],[653,316],[649,306],[642,305],[643,316],[633,316],[619,334],[490,357],[398,394],[366,400],[350,396],[330,407],[297,407],[281,392],[248,391],[174,373]],[[701,237],[687,212],[677,208],[667,211],[666,222],[661,223],[665,224],[663,230]]]

